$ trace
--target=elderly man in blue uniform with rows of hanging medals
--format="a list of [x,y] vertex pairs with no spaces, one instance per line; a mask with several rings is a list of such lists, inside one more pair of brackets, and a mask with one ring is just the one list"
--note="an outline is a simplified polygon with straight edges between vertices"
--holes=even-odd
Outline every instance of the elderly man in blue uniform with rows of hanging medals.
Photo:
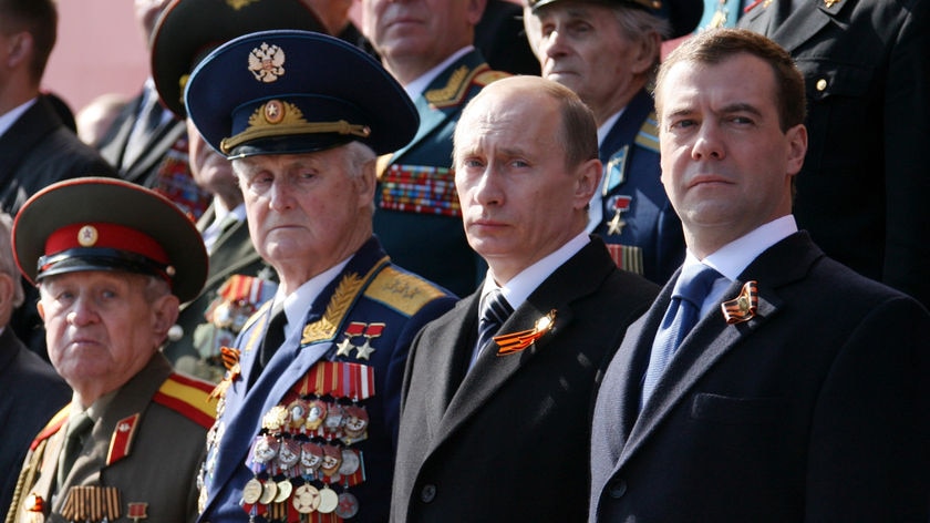
[[385,521],[407,349],[454,302],[372,233],[376,154],[413,137],[416,111],[363,51],[304,31],[221,45],[186,105],[280,281],[224,353],[200,520]]

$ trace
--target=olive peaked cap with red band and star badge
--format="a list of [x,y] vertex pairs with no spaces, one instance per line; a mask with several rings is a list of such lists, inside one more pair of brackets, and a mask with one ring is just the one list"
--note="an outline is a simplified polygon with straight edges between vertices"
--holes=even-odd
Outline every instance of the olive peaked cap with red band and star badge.
[[12,232],[17,266],[31,283],[85,270],[164,278],[182,301],[197,297],[207,252],[194,222],[164,196],[114,178],[59,182],[23,204]]

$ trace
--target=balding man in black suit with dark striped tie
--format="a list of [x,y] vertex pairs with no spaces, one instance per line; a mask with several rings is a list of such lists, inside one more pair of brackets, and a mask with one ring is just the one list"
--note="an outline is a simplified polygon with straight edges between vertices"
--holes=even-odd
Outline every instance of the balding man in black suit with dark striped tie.
[[658,288],[585,233],[601,163],[591,112],[568,88],[485,88],[454,165],[489,269],[411,349],[391,520],[582,521],[592,391]]

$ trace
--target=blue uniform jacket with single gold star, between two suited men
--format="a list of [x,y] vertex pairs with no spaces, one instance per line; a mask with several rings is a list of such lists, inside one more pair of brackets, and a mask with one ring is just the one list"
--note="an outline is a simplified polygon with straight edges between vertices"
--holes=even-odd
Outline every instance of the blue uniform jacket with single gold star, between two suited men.
[[684,236],[662,185],[652,96],[640,91],[603,139],[601,223],[617,265],[664,285],[684,260]]

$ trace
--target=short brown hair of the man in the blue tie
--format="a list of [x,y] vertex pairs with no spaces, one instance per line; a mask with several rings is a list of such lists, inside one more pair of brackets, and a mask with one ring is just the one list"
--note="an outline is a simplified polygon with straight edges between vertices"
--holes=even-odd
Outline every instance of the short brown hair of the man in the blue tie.
[[735,54],[746,53],[764,60],[775,74],[775,104],[778,123],[785,132],[803,124],[807,116],[804,75],[787,51],[772,40],[745,29],[712,29],[685,40],[669,53],[659,68],[655,81],[655,107],[662,113],[659,85],[668,71],[679,62],[720,63]]

